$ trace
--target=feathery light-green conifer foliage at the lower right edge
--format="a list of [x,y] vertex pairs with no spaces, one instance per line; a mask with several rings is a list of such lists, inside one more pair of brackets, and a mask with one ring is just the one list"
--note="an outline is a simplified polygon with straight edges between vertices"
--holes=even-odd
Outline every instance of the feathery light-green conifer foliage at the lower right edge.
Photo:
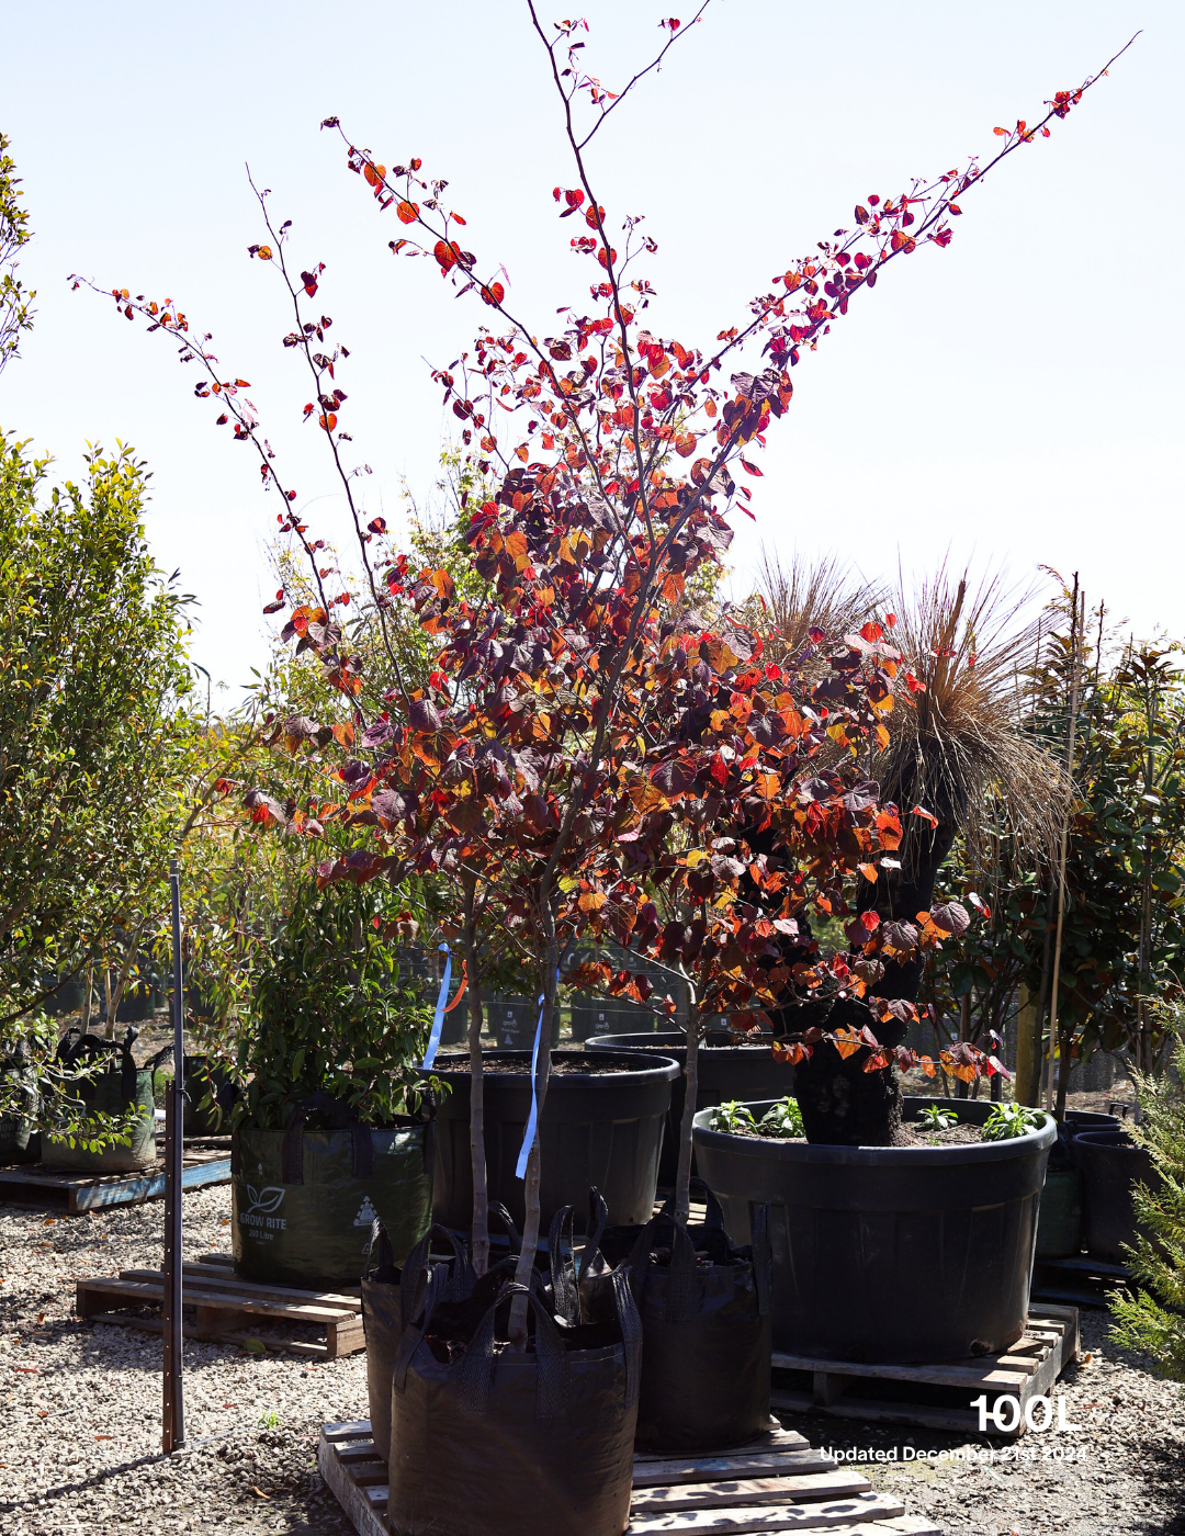
[[1142,1120],[1133,1135],[1148,1149],[1159,1183],[1136,1186],[1136,1217],[1144,1233],[1130,1249],[1134,1296],[1111,1292],[1113,1336],[1151,1355],[1165,1376],[1185,1381],[1185,1008],[1173,1009],[1179,1031],[1170,1074],[1134,1074]]

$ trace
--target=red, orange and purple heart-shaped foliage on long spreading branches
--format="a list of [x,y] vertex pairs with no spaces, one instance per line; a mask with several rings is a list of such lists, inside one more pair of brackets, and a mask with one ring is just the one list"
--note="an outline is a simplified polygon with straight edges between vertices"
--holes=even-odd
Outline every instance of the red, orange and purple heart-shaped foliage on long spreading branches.
[[[426,680],[406,677],[386,644],[393,680],[367,707],[349,593],[326,588],[324,539],[298,507],[249,386],[220,369],[209,336],[191,330],[177,304],[112,290],[123,315],[172,336],[200,366],[195,393],[255,453],[264,488],[283,502],[278,525],[307,561],[317,601],[292,607],[281,591],[267,611],[287,610],[284,634],[354,705],[349,733],[277,725],[278,740],[297,734],[301,748],[337,753],[335,803],[357,828],[357,848],[323,860],[318,880],[398,882],[415,871],[452,882],[456,932],[467,880],[486,902],[486,934],[509,932],[527,957],[547,1017],[572,943],[612,937],[689,980],[701,1017],[724,1014],[741,1032],[787,1005],[793,1018],[795,1005],[821,995],[861,1005],[858,1029],[782,1021],[779,1055],[801,1060],[828,1038],[841,1057],[864,1051],[865,1071],[913,1064],[876,1034],[887,1018],[916,1017],[913,1003],[882,998],[878,982],[887,963],[958,935],[968,914],[950,903],[882,922],[867,900],[895,865],[904,823],[930,817],[921,805],[884,803],[876,783],[888,716],[908,710],[921,687],[891,644],[895,619],[851,634],[813,630],[775,664],[727,613],[712,622],[696,613],[689,585],[722,561],[733,515],[753,516],[761,450],[792,406],[795,367],[893,261],[947,247],[979,181],[1048,137],[1097,77],[1057,92],[1033,126],[997,127],[1004,143],[985,164],[867,194],[848,227],[778,261],[735,326],[681,341],[650,318],[655,241],[638,220],[609,214],[584,152],[690,25],[661,23],[655,61],[613,94],[584,69],[583,22],[549,34],[527,9],[573,167],[572,184],[550,198],[587,273],[552,335],[507,293],[496,257],[472,249],[446,180],[420,158],[393,163],[358,147],[337,117],[321,124],[341,135],[392,253],[420,258],[478,306],[472,347],[432,379],[481,487],[458,508],[481,601],[458,594],[443,568],[415,568],[363,508],[340,382],[347,350],[329,339],[324,267],[290,258],[289,226],[272,220],[266,195],[266,240],[249,247],[298,316],[283,343],[309,379],[300,415],[324,435],[346,493],[366,621],[386,637],[413,616],[435,648]],[[824,679],[810,682],[819,657]],[[317,817],[301,820],[258,791],[247,805],[317,837]],[[842,923],[835,952],[812,937],[821,920]],[[572,978],[650,994],[644,977],[596,962]],[[547,1038],[544,1025],[543,1092]],[[999,1069],[974,1048],[964,1057],[942,1066],[971,1077]]]

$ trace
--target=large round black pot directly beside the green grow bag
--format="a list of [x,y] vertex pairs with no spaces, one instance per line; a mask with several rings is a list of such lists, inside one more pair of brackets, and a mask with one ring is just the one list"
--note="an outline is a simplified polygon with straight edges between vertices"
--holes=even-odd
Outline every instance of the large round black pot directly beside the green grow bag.
[[[530,1114],[530,1052],[487,1051],[486,1061],[518,1063],[515,1072],[486,1072],[483,1084],[489,1198],[503,1201],[521,1227],[526,1207],[515,1164]],[[641,1226],[655,1209],[678,1063],[641,1051],[553,1051],[552,1061],[567,1071],[552,1075],[539,1117],[539,1207],[575,1206],[579,1218],[595,1184],[615,1226]],[[450,1087],[436,1111],[433,1212],[446,1227],[467,1229],[473,1220],[469,1057],[441,1054],[432,1072]]]

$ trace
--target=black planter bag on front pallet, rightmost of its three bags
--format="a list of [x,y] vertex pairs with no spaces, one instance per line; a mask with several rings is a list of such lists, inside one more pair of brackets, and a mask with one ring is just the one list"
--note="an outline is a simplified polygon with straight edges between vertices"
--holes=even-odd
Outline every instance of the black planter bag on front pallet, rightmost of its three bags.
[[[607,1263],[629,1261],[642,1319],[638,1444],[647,1450],[741,1445],[770,1422],[768,1206],[753,1217],[752,1246],[738,1247],[707,1184],[692,1180],[692,1190],[705,1198],[704,1226],[684,1227],[667,1201],[641,1229],[610,1227],[599,1240],[593,1232],[581,1258],[583,1316],[604,1313]],[[561,1267],[563,1258],[553,1264]],[[556,1310],[570,1315],[572,1306],[569,1283],[556,1290]]]

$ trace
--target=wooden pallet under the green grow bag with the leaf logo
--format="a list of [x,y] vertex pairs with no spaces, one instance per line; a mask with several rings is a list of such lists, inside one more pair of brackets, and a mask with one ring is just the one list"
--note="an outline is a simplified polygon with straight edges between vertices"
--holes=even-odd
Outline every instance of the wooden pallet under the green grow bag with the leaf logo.
[[[109,1278],[75,1281],[75,1309],[80,1318],[151,1333],[161,1332],[160,1318],[135,1316],[118,1309],[160,1306],[163,1296],[164,1276],[157,1269],[124,1269]],[[203,1253],[197,1264],[181,1267],[181,1303],[195,1313],[194,1322],[186,1324],[189,1338],[255,1342],[317,1359],[337,1359],[366,1349],[363,1304],[357,1287],[324,1292],[255,1284],[235,1275],[229,1253]],[[274,1326],[275,1321],[315,1324],[324,1329],[324,1342],[258,1333],[261,1324]]]

